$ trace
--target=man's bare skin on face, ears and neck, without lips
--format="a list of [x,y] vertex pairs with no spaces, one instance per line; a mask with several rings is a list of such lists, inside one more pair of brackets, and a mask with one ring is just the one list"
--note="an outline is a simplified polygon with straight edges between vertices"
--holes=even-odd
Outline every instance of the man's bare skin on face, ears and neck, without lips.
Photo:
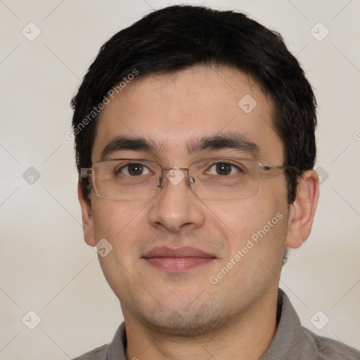
[[[256,107],[238,101],[250,94]],[[196,66],[153,75],[127,85],[98,120],[92,161],[118,135],[158,141],[158,153],[118,151],[107,158],[142,158],[163,167],[188,167],[203,158],[238,156],[234,149],[189,155],[191,139],[237,133],[259,146],[263,165],[283,165],[281,139],[271,127],[272,103],[248,75],[233,68]],[[113,201],[91,191],[83,198],[84,238],[106,238],[111,251],[99,257],[105,278],[120,300],[127,328],[127,359],[260,359],[276,332],[276,299],[285,248],[298,248],[311,231],[319,185],[304,173],[298,195],[287,203],[285,176],[264,176],[256,195],[239,200],[202,200],[184,180],[167,181],[155,198]],[[276,214],[283,219],[213,285],[217,274]],[[142,258],[155,246],[193,246],[216,257],[181,274]]]

